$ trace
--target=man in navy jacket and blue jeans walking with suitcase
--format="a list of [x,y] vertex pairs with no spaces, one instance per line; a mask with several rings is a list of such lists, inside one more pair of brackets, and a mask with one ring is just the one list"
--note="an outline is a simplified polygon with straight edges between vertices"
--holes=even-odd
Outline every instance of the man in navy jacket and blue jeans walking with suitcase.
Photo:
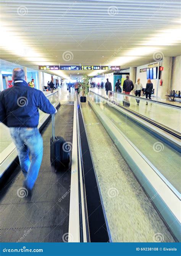
[[43,139],[37,128],[38,109],[48,114],[57,110],[42,91],[28,86],[23,69],[13,69],[12,79],[14,86],[0,92],[0,122],[10,127],[25,177],[23,185],[31,192],[43,156]]

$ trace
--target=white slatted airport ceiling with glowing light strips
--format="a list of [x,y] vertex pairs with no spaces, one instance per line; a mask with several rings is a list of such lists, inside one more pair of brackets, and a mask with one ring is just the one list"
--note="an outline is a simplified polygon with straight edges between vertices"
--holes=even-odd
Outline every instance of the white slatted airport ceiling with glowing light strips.
[[1,59],[29,68],[140,66],[180,55],[180,1],[1,0],[0,30]]

